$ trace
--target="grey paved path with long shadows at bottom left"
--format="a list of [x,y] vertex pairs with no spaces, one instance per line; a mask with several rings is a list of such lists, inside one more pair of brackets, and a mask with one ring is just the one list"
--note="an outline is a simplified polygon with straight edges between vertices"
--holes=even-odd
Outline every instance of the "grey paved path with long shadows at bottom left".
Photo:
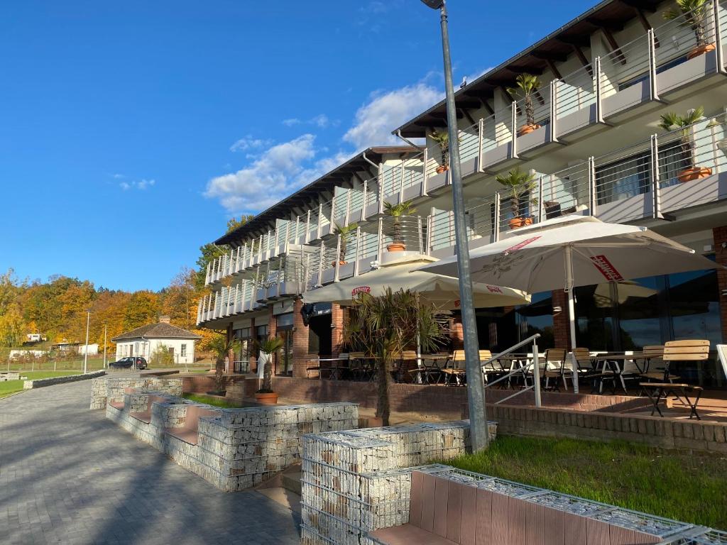
[[218,491],[89,411],[89,381],[0,399],[0,544],[298,544],[297,514]]

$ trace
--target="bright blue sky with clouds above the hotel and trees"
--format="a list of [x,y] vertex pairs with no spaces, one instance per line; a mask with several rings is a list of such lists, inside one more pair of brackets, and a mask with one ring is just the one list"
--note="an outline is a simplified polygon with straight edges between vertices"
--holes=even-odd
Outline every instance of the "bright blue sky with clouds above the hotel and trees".
[[[455,80],[591,5],[450,0]],[[443,92],[417,0],[3,2],[0,50],[0,270],[127,290]]]

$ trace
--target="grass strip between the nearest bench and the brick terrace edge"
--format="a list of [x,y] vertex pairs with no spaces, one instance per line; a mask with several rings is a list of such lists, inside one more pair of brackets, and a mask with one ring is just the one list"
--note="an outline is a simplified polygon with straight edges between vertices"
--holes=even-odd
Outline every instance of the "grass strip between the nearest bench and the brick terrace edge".
[[460,469],[683,522],[727,529],[727,459],[646,445],[499,437],[445,461]]

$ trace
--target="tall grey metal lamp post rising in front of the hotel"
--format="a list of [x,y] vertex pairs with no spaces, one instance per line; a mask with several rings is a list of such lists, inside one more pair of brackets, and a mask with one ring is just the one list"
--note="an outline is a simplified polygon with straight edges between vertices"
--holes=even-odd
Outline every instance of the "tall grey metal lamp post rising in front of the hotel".
[[454,210],[454,239],[457,244],[457,268],[459,270],[459,298],[462,299],[462,328],[465,334],[465,366],[467,370],[467,403],[470,406],[470,436],[473,452],[481,451],[489,442],[485,410],[485,386],[480,368],[477,319],[472,296],[470,276],[470,248],[467,246],[465,224],[465,195],[462,192],[462,171],[459,165],[459,134],[457,111],[454,106],[454,86],[449,53],[449,30],[445,0],[422,0],[441,15],[442,52],[444,57],[444,88],[446,92],[447,129],[449,131],[449,176],[452,186]]

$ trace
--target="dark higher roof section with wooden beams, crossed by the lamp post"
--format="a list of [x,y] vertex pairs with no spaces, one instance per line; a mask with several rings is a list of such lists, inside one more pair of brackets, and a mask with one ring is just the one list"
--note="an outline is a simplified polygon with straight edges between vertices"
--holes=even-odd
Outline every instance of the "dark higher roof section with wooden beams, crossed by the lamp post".
[[[491,98],[495,89],[504,89],[515,83],[521,73],[542,74],[551,71],[554,62],[563,62],[571,53],[581,57],[582,48],[590,47],[590,36],[601,29],[609,33],[622,30],[627,21],[638,18],[642,25],[648,25],[644,12],[655,12],[662,0],[604,0],[574,20],[566,23],[557,31],[545,36],[531,47],[492,68],[479,78],[454,93],[457,105],[457,118],[465,116],[467,110],[483,107],[483,102]],[[555,76],[561,76],[555,69]],[[490,113],[492,113],[490,111]],[[446,103],[444,100],[419,116],[407,121],[398,129],[405,138],[423,138],[431,129],[446,126]]]

